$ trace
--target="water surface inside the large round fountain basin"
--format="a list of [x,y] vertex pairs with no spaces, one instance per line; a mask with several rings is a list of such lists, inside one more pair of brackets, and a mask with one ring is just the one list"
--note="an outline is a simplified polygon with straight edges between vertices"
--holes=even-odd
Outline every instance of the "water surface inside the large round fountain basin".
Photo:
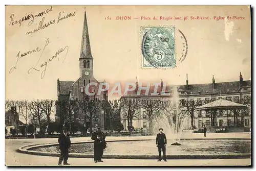
[[[93,141],[72,143],[70,157],[93,158]],[[168,140],[167,140],[168,142]],[[155,140],[113,140],[107,141],[108,147],[103,158],[119,159],[158,159]],[[167,159],[224,159],[250,158],[251,141],[246,139],[189,139],[181,140],[180,146],[167,144]],[[18,149],[20,153],[59,156],[58,143],[34,144]]]

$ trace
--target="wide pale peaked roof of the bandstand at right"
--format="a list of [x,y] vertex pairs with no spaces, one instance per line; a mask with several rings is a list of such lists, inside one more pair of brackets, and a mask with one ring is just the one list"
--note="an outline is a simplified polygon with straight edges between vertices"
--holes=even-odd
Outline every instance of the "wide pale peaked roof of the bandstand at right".
[[214,102],[210,102],[208,104],[199,106],[195,108],[195,111],[197,110],[211,110],[211,109],[245,109],[247,106],[230,102],[224,99],[218,99]]

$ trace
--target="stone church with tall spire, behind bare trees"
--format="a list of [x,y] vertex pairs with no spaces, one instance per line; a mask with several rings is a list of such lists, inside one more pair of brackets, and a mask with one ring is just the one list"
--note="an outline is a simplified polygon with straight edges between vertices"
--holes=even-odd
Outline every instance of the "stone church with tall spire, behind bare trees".
[[[100,84],[93,76],[93,56],[91,52],[91,45],[89,39],[88,25],[87,25],[87,17],[86,12],[84,12],[84,22],[83,22],[83,32],[82,32],[82,42],[81,42],[81,50],[79,57],[79,70],[80,75],[76,81],[60,81],[57,80],[57,95],[58,102],[60,101],[81,101],[85,97],[89,97],[90,100],[105,100],[108,102],[108,91],[102,92],[100,95],[92,95],[88,96],[86,94],[86,85],[89,83],[97,83]],[[91,85],[89,87],[89,92],[97,92],[98,86]],[[92,122],[90,126],[90,121],[82,116],[82,112],[77,109],[74,111],[74,123],[75,125],[80,125],[87,128],[94,127],[95,125],[100,126],[102,129],[106,128],[106,112],[100,111],[96,113],[96,121]],[[59,121],[60,124],[65,124],[65,119],[63,118],[63,114],[59,106],[56,105],[56,115],[55,120]]]

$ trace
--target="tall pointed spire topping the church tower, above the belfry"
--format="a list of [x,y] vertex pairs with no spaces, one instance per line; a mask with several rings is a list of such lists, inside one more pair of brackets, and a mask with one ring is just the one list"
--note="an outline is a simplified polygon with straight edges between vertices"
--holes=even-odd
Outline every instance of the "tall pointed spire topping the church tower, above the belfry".
[[83,31],[82,31],[82,43],[80,58],[93,58],[91,52],[91,45],[89,39],[89,32],[87,26],[86,10],[84,9],[84,21],[83,21]]

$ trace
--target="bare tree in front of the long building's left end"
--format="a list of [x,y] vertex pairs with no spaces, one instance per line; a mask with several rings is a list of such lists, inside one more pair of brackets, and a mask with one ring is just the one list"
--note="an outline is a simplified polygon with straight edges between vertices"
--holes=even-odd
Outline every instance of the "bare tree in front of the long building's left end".
[[[123,117],[128,121],[128,127],[133,127],[133,119],[138,117],[141,107],[140,99],[122,99]],[[130,131],[130,129],[129,129]]]

